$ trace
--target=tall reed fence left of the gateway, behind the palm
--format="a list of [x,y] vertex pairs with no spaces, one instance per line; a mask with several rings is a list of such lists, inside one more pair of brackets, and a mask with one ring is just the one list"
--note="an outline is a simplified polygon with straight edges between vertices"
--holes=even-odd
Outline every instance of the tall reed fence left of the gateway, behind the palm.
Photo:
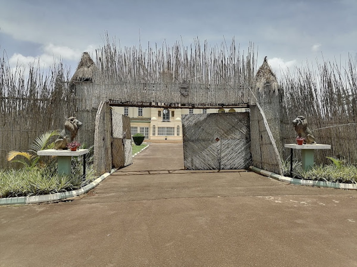
[[61,63],[44,73],[35,64],[11,69],[1,58],[0,168],[18,167],[7,162],[9,151],[26,151],[41,133],[63,129],[70,116],[84,123],[76,140],[87,145],[94,143],[95,114],[93,118],[91,112],[77,110],[77,98],[69,80],[70,70]]

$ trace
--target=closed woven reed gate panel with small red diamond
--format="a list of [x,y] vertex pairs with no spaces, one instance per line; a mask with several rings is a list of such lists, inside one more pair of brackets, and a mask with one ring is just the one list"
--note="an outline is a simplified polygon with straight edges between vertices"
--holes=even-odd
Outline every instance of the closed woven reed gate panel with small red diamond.
[[186,169],[243,169],[251,164],[249,114],[182,115]]

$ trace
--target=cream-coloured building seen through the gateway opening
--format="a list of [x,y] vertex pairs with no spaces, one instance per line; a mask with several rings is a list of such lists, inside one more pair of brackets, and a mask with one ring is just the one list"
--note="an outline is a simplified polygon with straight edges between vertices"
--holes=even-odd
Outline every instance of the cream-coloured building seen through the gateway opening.
[[116,112],[130,117],[131,134],[142,133],[149,140],[182,140],[181,115],[219,112],[249,112],[236,109],[164,109],[113,107]]

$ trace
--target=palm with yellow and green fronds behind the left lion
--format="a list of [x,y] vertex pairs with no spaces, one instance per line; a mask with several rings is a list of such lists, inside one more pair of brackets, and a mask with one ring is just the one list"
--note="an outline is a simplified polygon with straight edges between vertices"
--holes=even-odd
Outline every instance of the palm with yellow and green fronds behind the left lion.
[[[7,161],[19,162],[25,167],[34,167],[39,164],[40,156],[37,156],[36,152],[39,150],[51,149],[54,147],[54,142],[49,143],[51,137],[59,135],[58,130],[47,131],[42,133],[30,146],[28,152],[23,151],[10,151],[6,159]],[[35,155],[30,152],[35,153]],[[24,158],[13,160],[16,156],[22,156]]]

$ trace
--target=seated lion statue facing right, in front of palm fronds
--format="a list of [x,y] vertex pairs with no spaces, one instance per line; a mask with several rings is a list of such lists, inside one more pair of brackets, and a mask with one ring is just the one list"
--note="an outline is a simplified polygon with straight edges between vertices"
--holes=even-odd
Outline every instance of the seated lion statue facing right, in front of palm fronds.
[[55,141],[55,149],[66,149],[67,144],[72,142],[77,136],[78,130],[82,126],[82,122],[75,117],[69,117],[65,122],[65,129],[60,132],[60,135]]

